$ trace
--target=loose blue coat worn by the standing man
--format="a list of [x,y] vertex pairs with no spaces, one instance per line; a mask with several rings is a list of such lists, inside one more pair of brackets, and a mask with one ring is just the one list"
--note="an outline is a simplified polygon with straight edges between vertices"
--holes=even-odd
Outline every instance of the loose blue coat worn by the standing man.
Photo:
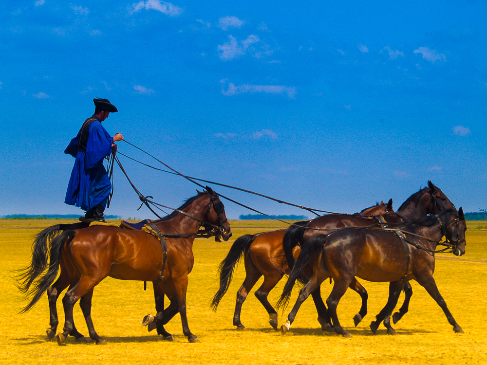
[[86,152],[78,151],[81,129],[64,150],[76,158],[64,202],[86,211],[100,203],[105,205],[112,190],[103,159],[112,153],[113,138],[98,117],[92,118],[96,120],[89,127]]

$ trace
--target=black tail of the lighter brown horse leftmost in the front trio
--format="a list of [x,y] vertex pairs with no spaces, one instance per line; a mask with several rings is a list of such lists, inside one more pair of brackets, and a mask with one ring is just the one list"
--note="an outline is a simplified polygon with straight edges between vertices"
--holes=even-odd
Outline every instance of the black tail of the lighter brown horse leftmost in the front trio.
[[230,247],[228,255],[226,255],[225,259],[220,264],[220,289],[218,289],[218,292],[216,292],[213,300],[211,301],[211,308],[213,308],[213,310],[217,310],[218,304],[230,286],[235,266],[244,256],[245,250],[248,249],[255,237],[256,236],[254,235],[244,235],[237,238],[235,242],[233,242],[232,247]]

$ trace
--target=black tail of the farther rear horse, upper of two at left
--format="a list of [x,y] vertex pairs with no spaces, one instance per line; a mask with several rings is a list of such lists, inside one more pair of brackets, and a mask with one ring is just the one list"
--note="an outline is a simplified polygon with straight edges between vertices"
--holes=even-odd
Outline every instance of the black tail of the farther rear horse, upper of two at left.
[[56,224],[43,229],[35,236],[32,243],[32,262],[26,268],[19,270],[17,287],[21,292],[27,292],[37,276],[46,270],[49,243],[61,232],[61,224]]

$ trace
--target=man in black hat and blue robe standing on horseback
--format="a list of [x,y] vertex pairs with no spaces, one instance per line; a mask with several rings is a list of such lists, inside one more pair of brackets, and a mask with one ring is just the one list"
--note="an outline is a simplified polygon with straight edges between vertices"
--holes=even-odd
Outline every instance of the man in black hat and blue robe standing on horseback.
[[103,212],[107,206],[112,183],[103,159],[116,151],[115,142],[122,141],[120,133],[114,137],[101,125],[117,108],[108,99],[93,99],[94,114],[85,120],[78,134],[71,140],[64,153],[75,157],[75,165],[66,191],[64,202],[86,211],[81,221],[105,222]]

